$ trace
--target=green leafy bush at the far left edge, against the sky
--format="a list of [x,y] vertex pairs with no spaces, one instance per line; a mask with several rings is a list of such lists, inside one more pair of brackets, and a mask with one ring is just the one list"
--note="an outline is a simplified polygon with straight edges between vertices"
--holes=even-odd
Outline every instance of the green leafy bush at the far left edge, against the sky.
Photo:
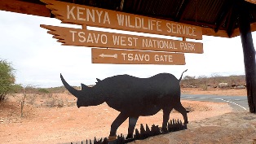
[[0,102],[16,88],[14,71],[15,69],[11,67],[11,63],[0,60]]

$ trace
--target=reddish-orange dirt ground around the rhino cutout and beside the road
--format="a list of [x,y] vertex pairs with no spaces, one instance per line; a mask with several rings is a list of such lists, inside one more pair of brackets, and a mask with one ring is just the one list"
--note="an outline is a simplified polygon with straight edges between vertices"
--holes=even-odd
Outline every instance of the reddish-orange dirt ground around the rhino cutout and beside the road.
[[[245,95],[245,89],[182,89],[183,94]],[[0,103],[0,143],[70,143],[94,137],[108,137],[110,125],[118,111],[103,103],[95,107],[76,106],[68,94],[27,97],[24,116],[20,117],[20,98],[9,97]],[[50,101],[51,100],[51,101]],[[54,102],[54,103],[52,103]],[[62,103],[61,103],[62,102]],[[57,103],[57,104],[56,104]],[[253,143],[256,139],[256,115],[249,111],[233,111],[227,103],[182,101],[188,113],[188,129],[150,137],[131,143]],[[183,120],[172,111],[170,119]],[[139,117],[140,124],[161,126],[162,111],[154,116]],[[126,135],[126,120],[117,133]]]

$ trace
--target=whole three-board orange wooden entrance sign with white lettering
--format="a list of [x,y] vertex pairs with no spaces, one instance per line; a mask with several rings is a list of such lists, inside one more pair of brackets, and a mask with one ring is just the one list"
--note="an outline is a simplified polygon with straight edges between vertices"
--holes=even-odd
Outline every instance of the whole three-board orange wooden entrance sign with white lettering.
[[[86,29],[88,25],[183,37],[183,39],[186,39],[186,37],[202,39],[201,27],[68,2],[41,1],[45,2],[46,7],[51,10],[55,18],[63,23],[82,25],[82,28],[65,28],[41,24],[41,27],[48,29],[48,33],[54,35],[53,37],[58,39],[62,45],[129,49],[91,49],[92,63],[183,65],[185,64],[183,53],[203,53],[203,44],[200,42],[177,41]],[[167,51],[167,53],[153,51]]]

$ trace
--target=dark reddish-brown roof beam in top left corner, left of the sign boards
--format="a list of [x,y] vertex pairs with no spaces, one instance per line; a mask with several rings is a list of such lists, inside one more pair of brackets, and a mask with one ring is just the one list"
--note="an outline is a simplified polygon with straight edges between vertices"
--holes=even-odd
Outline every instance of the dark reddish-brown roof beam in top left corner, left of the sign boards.
[[0,0],[0,10],[28,15],[51,16],[51,11],[47,9],[45,5],[18,0]]

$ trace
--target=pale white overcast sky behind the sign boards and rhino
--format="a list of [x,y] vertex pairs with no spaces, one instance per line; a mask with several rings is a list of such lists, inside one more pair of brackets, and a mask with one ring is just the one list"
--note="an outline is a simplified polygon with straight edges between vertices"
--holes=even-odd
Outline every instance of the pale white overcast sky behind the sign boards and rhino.
[[[61,46],[40,24],[81,28],[74,24],[61,24],[60,20],[34,15],[0,11],[0,59],[15,68],[16,83],[36,87],[61,86],[60,73],[70,85],[95,85],[96,78],[129,74],[150,77],[168,72],[179,78],[184,76],[244,75],[244,59],[241,37],[223,38],[203,36],[203,54],[185,54],[186,65],[153,64],[99,64],[91,63],[91,48]],[[93,28],[113,33],[126,33],[147,37],[167,37],[148,33],[132,33],[120,30]],[[252,33],[254,47],[256,33]],[[194,40],[196,41],[196,40]]]

